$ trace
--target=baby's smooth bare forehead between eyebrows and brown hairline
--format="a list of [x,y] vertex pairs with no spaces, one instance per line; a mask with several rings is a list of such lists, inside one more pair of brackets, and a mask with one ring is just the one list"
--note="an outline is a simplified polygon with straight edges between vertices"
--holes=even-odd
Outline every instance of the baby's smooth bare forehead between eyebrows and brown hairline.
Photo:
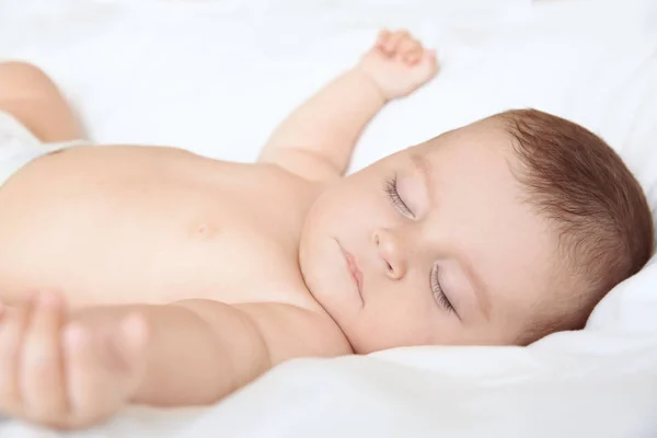
[[[516,318],[550,291],[556,239],[526,203],[511,138],[485,120],[417,147],[431,174],[427,233],[466,258],[487,285],[492,312]],[[413,150],[411,150],[413,153]]]

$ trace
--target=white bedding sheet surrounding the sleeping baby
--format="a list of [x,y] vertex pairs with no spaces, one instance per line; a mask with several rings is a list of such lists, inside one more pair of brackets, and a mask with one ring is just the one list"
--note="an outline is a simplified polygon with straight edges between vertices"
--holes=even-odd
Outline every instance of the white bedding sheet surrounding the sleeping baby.
[[[601,134],[655,211],[652,0],[0,0],[0,59],[44,68],[97,141],[250,161],[383,25],[408,27],[436,47],[441,72],[370,125],[353,169],[494,112],[533,106]],[[211,408],[131,408],[70,436],[657,436],[652,262],[596,308],[585,331],[528,348],[295,360]],[[3,438],[58,435],[0,423]]]

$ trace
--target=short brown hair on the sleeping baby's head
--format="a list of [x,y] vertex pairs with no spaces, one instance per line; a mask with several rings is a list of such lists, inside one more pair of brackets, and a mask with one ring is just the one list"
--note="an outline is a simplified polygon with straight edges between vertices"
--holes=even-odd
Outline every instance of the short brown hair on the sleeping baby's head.
[[560,263],[575,280],[563,281],[557,296],[566,298],[552,307],[558,315],[542,315],[520,339],[528,344],[584,327],[607,292],[653,254],[653,217],[641,185],[600,137],[537,110],[496,118],[515,140],[520,165],[511,171],[528,189],[527,200],[554,223]]

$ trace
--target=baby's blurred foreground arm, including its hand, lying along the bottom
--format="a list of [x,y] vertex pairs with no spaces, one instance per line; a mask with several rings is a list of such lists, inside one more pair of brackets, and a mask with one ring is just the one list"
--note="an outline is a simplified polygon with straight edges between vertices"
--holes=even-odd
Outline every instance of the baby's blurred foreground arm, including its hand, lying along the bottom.
[[84,427],[126,402],[208,404],[286,359],[350,353],[327,315],[280,303],[97,307],[67,320],[51,293],[3,310],[0,413]]

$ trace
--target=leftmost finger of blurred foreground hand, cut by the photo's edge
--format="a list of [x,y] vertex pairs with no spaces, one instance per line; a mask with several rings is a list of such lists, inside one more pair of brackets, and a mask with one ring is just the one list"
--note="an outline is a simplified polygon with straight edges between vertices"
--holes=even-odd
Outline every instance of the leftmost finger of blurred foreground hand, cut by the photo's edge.
[[0,322],[0,411],[14,416],[22,413],[20,358],[30,312],[30,301],[11,310],[5,308]]

